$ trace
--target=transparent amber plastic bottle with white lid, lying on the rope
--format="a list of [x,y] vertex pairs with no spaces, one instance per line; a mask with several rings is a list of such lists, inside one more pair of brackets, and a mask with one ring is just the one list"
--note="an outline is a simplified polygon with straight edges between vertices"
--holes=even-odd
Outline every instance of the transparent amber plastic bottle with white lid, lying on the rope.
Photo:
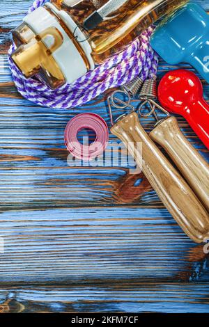
[[[13,31],[17,49],[12,58],[26,77],[38,74],[57,88],[122,51],[150,24],[188,1],[51,0]],[[104,6],[107,16],[100,17]],[[101,18],[98,24],[95,17]],[[93,28],[86,29],[89,23]]]

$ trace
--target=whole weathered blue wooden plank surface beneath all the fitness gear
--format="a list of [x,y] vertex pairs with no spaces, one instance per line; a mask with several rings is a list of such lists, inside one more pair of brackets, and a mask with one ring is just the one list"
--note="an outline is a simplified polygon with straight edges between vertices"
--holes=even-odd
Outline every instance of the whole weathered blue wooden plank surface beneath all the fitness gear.
[[[209,9],[209,1],[197,2]],[[1,303],[9,301],[10,312],[18,303],[23,312],[207,312],[208,255],[183,234],[144,176],[130,175],[125,161],[114,168],[68,166],[65,125],[76,113],[91,111],[110,127],[106,96],[62,111],[40,108],[17,93],[6,53],[10,30],[30,3],[0,3]],[[159,77],[170,68],[161,62]],[[206,83],[204,91],[209,99]],[[152,129],[152,119],[141,121]],[[208,160],[187,122],[178,122]],[[110,136],[109,151],[116,140]]]

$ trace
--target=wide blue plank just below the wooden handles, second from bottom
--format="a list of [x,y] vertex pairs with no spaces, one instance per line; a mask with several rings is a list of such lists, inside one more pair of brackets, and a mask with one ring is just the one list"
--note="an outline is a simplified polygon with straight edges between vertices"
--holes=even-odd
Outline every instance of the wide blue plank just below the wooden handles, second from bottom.
[[166,209],[25,210],[0,223],[1,282],[198,281],[208,269]]

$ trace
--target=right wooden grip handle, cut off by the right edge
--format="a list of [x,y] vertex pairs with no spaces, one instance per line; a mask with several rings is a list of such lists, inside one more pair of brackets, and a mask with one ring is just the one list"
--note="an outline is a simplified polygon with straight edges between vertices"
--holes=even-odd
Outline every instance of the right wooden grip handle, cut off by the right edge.
[[153,141],[164,147],[196,196],[209,211],[209,166],[187,141],[175,117],[160,122],[149,134]]

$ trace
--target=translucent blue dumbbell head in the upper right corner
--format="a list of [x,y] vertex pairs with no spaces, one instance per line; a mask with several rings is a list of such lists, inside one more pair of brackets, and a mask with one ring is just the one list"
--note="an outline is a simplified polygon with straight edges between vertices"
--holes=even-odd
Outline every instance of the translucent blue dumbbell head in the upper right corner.
[[209,15],[198,4],[187,3],[164,19],[151,45],[167,63],[189,63],[209,83]]

